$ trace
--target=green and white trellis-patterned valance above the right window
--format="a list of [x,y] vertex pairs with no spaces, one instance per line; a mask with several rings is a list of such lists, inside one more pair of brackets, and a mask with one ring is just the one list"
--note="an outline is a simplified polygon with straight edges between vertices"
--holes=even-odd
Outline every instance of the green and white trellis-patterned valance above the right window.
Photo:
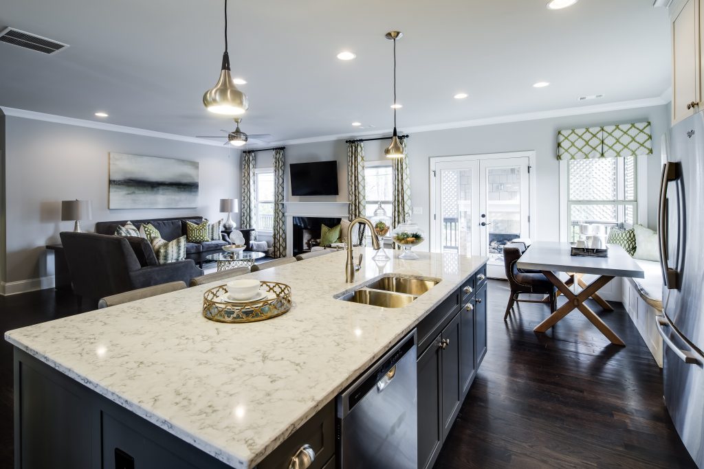
[[558,132],[558,160],[652,155],[650,122],[617,124]]

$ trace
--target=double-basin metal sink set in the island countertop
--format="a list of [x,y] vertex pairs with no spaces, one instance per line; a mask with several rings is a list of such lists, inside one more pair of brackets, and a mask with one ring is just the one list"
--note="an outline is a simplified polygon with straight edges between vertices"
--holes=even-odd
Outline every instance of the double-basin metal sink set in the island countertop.
[[439,278],[386,274],[337,298],[382,308],[402,308],[438,283]]

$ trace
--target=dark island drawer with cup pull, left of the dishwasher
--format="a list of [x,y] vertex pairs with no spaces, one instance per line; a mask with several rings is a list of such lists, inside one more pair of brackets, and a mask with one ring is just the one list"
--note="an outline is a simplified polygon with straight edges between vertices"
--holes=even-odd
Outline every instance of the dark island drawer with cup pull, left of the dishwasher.
[[[304,445],[315,451],[315,460],[310,469],[334,468],[330,458],[335,454],[335,409],[333,401],[325,404],[315,416],[304,423],[293,435],[271,452],[257,469],[289,469],[291,460]],[[334,458],[333,458],[334,460]]]

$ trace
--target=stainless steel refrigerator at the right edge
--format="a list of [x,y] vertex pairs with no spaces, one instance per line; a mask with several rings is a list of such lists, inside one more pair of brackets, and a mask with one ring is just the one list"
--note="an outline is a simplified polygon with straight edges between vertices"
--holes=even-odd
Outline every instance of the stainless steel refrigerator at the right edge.
[[665,347],[665,405],[704,468],[704,114],[676,124],[663,142],[658,235],[664,315],[656,321]]

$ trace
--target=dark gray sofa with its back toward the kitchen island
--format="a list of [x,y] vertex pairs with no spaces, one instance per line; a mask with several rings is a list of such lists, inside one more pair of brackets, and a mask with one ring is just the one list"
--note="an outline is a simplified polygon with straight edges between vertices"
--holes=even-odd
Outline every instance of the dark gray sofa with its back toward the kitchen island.
[[158,264],[144,238],[71,231],[59,236],[75,293],[93,302],[161,283],[188,283],[203,275],[192,259]]

